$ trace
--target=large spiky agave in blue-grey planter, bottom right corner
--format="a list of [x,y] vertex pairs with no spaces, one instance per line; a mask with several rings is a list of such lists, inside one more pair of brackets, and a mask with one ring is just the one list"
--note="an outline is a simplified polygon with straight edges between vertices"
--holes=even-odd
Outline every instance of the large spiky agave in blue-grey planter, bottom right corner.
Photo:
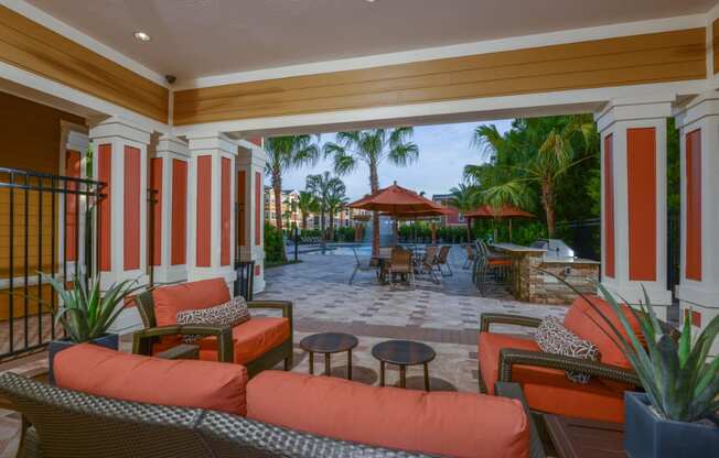
[[[620,303],[602,285],[599,288],[619,317],[622,330],[599,308],[594,309],[610,324],[613,336],[609,337],[626,356],[644,388],[642,393],[624,394],[627,455],[631,458],[718,456],[719,357],[709,357],[709,350],[719,334],[719,316],[693,338],[690,320],[685,315],[677,338],[672,329],[661,326],[645,292],[644,304],[638,309],[630,307],[642,330],[643,339],[640,339]],[[593,306],[590,298],[584,298]]]

